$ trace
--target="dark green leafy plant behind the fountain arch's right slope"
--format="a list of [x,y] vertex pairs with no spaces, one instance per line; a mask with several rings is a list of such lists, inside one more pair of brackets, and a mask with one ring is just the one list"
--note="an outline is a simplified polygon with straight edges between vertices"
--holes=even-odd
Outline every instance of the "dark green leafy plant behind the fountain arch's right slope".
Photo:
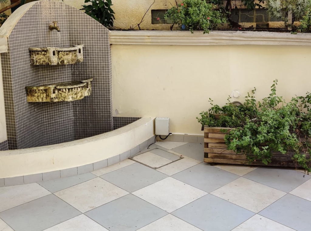
[[91,2],[90,5],[83,5],[81,10],[105,27],[114,25],[114,11],[111,9],[111,0],[85,0],[84,3]]

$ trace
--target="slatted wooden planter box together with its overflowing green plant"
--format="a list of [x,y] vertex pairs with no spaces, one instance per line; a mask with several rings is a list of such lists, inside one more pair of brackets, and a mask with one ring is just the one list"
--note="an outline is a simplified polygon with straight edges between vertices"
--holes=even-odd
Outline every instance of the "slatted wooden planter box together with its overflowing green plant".
[[214,105],[200,113],[204,126],[204,162],[302,167],[311,171],[311,93],[285,102],[271,94],[256,102],[252,94],[235,106]]

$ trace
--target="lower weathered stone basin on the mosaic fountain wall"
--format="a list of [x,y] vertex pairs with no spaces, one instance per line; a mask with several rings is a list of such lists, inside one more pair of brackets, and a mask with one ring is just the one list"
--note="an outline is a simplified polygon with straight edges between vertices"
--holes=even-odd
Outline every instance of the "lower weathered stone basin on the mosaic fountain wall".
[[75,101],[91,95],[93,79],[26,87],[27,102]]

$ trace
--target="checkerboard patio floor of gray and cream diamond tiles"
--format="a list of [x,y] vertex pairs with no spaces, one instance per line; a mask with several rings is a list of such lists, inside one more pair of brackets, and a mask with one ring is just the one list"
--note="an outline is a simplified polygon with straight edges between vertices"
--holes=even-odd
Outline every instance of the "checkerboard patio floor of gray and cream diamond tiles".
[[0,188],[0,231],[310,230],[311,176],[210,166],[202,163],[202,144],[157,142],[145,151],[172,161],[159,148],[183,159],[156,170],[128,159],[92,173]]

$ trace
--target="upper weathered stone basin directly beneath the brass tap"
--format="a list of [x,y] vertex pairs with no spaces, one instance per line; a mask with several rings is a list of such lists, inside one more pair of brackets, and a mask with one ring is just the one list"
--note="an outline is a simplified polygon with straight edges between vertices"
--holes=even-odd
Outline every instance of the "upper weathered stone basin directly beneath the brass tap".
[[29,48],[32,65],[63,65],[83,62],[83,45],[67,48]]

